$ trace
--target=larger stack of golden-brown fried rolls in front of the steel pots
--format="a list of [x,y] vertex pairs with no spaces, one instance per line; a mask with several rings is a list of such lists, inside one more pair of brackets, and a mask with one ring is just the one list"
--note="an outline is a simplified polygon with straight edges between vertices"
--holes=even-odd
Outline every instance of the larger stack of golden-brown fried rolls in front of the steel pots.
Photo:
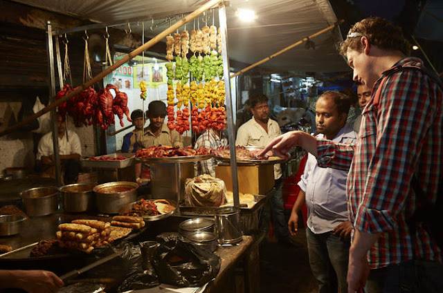
[[71,223],[58,225],[56,232],[60,247],[77,249],[91,253],[95,247],[109,244],[111,223],[100,220],[73,220]]

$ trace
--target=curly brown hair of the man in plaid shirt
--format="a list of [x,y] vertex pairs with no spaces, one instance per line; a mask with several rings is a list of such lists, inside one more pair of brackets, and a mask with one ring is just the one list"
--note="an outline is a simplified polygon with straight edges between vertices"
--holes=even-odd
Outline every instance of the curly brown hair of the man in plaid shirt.
[[370,44],[386,50],[399,50],[409,55],[410,46],[404,39],[399,26],[394,26],[386,19],[368,17],[354,24],[347,32],[347,37],[340,44],[340,53],[346,56],[347,49],[361,50],[361,37],[367,37]]

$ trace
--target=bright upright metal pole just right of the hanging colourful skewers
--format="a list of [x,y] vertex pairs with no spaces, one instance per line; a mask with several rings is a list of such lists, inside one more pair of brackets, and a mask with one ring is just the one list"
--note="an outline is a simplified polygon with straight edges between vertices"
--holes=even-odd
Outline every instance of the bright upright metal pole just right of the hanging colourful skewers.
[[228,115],[228,138],[230,151],[230,174],[233,181],[233,199],[234,206],[239,207],[238,198],[238,176],[237,176],[237,156],[235,153],[235,133],[234,133],[234,117],[233,106],[230,97],[230,77],[229,77],[229,57],[228,57],[228,37],[226,25],[226,6],[222,2],[219,4],[219,26],[221,33],[221,57],[223,57],[223,77],[224,89],[226,93],[226,114]]

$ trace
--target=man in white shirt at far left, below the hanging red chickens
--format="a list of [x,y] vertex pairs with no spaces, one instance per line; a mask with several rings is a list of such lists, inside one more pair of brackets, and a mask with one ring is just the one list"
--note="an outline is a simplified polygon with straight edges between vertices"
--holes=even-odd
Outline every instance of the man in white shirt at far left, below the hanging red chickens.
[[[57,136],[58,147],[60,153],[60,161],[62,162],[62,171],[64,171],[64,183],[73,184],[78,180],[80,173],[80,156],[82,155],[82,147],[77,133],[74,131],[66,131],[64,117],[57,114]],[[69,140],[66,138],[66,132]],[[42,176],[55,177],[54,169],[54,143],[53,133],[46,133],[39,141],[37,150],[37,167]]]

